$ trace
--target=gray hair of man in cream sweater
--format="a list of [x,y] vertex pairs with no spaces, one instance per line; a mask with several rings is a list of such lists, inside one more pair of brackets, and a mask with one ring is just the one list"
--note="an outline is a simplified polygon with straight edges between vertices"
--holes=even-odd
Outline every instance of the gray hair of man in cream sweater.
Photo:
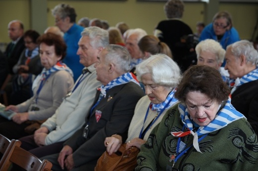
[[88,36],[93,48],[106,47],[109,44],[108,31],[96,26],[86,27],[81,32],[81,36]]

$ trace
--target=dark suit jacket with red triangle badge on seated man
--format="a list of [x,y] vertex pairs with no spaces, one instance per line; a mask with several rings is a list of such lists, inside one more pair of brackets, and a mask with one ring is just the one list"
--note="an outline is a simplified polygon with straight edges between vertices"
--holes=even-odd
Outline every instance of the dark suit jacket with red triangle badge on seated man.
[[[96,103],[99,94],[100,91],[97,92],[93,104]],[[140,86],[132,82],[115,86],[107,91],[106,97],[101,99],[89,119],[85,120],[85,125],[89,124],[88,138],[82,137],[84,125],[65,142],[65,145],[73,149],[75,167],[80,169],[85,167],[88,171],[91,170],[89,168],[94,168],[98,158],[106,150],[104,146],[106,137],[120,133],[124,140],[127,139],[134,108],[143,95]],[[102,112],[98,122],[95,116],[96,110]]]

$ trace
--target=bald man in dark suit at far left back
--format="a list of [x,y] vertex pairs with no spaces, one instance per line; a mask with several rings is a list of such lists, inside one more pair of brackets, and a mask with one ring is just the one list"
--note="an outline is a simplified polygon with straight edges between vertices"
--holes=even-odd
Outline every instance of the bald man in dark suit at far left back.
[[25,48],[21,21],[12,20],[9,22],[8,36],[12,42],[7,45],[4,54],[7,57],[9,73],[13,74],[12,67],[18,62],[21,52]]

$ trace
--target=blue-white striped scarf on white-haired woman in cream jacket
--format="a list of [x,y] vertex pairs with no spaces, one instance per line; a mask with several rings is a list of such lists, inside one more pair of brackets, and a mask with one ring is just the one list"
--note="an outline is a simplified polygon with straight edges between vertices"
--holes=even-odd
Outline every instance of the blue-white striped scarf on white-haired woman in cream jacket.
[[[171,106],[173,106],[175,103],[178,102],[178,99],[176,99],[174,97],[175,95],[175,92],[177,91],[176,88],[174,88],[167,96],[166,100],[163,101],[162,103],[159,103],[159,104],[154,104],[154,103],[150,103],[151,105],[151,110],[152,111],[157,111],[157,112],[160,112],[163,108],[165,109],[168,109],[170,108]],[[169,103],[169,104],[168,104]],[[168,105],[167,105],[168,104]]]

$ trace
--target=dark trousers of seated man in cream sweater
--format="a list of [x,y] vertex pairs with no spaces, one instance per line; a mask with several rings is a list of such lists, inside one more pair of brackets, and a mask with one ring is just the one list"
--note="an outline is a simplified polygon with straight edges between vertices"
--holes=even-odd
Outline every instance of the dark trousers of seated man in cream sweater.
[[61,141],[61,142],[56,142],[50,145],[39,147],[35,143],[33,136],[34,135],[25,136],[20,138],[19,140],[21,141],[21,148],[29,151],[30,153],[34,154],[38,158],[59,153],[63,148],[63,143],[65,142],[65,141]]

